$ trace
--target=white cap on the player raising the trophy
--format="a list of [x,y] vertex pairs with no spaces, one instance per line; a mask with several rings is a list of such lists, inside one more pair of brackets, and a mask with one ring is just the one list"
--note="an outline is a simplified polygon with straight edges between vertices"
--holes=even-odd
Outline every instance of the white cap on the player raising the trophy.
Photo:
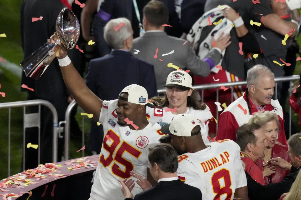
[[[121,97],[121,93],[128,93],[128,98]],[[132,84],[125,87],[121,93],[119,93],[119,99],[127,101],[129,103],[135,103],[139,105],[146,105],[150,108],[155,108],[155,106],[148,102],[148,95],[145,88],[140,85]]]

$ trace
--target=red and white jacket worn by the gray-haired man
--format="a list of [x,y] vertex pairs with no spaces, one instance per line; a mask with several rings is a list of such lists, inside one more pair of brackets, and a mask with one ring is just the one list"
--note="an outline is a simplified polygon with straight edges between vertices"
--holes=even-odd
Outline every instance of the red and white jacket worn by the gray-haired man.
[[[247,101],[248,97],[248,101]],[[245,111],[243,111],[242,107]],[[277,100],[272,100],[271,104],[267,104],[265,110],[272,111],[279,118],[279,132],[277,141],[287,145],[287,139],[284,132],[283,110]],[[216,140],[230,139],[236,142],[236,131],[244,123],[248,123],[252,115],[257,112],[255,104],[245,92],[243,97],[232,102],[223,113],[219,116]],[[246,113],[246,114],[245,114]],[[250,114],[251,113],[251,114]]]

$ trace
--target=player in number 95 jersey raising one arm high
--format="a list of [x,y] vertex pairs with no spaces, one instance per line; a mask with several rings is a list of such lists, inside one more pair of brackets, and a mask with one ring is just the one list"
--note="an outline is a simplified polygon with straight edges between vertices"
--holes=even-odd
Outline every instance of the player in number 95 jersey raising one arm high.
[[[57,39],[54,34],[48,42],[54,43]],[[56,52],[72,97],[86,113],[93,115],[94,121],[103,124],[105,136],[90,199],[124,199],[117,180],[131,177],[131,170],[144,175],[150,183],[155,184],[149,173],[147,155],[148,148],[158,143],[162,133],[157,123],[146,119],[145,107],[154,106],[148,103],[145,88],[136,84],[129,85],[119,94],[119,99],[103,101],[87,87],[61,42],[52,51]],[[137,185],[132,193],[135,195],[142,191]]]

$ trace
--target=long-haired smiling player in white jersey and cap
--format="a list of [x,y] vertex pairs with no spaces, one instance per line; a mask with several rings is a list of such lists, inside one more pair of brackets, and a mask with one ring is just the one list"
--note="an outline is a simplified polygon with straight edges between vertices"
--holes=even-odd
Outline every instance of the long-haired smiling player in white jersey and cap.
[[167,77],[165,87],[164,98],[153,97],[150,99],[156,108],[146,108],[146,116],[151,121],[164,126],[170,123],[177,114],[193,115],[201,121],[201,134],[204,143],[209,143],[208,123],[214,118],[209,107],[197,100],[195,91],[192,89],[191,76],[182,70],[172,71]]

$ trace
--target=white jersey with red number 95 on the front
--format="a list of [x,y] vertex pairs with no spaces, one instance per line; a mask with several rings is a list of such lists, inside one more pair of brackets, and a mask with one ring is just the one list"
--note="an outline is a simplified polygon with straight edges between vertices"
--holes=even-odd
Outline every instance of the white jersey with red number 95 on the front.
[[[99,163],[94,176],[90,197],[92,200],[123,200],[119,178],[132,178],[134,170],[146,177],[148,149],[162,137],[160,125],[150,122],[142,130],[132,130],[129,126],[117,124],[117,100],[103,101],[99,122],[103,125],[104,139]],[[100,144],[99,144],[100,145]],[[132,194],[143,190],[138,184]]]

